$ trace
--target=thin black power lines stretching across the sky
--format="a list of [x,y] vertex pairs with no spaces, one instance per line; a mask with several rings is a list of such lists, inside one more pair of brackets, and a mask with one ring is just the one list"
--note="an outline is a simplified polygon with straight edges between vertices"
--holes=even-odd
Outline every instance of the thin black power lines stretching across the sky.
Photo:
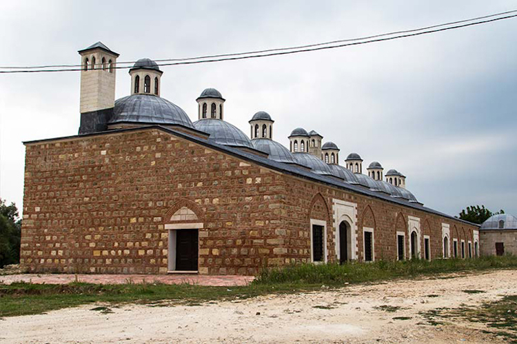
[[[513,12],[517,12],[517,10],[511,10],[511,11],[503,12],[503,14],[513,13]],[[491,14],[489,16],[478,17],[478,18],[488,18],[488,17],[497,16],[497,15],[500,15],[500,14]],[[172,63],[157,63],[158,65],[163,65],[163,66],[166,66],[166,65],[187,65],[187,64],[210,63],[210,62],[220,62],[220,61],[234,61],[234,60],[241,60],[241,59],[252,59],[252,58],[258,58],[258,57],[271,57],[271,56],[278,56],[278,55],[285,55],[285,54],[296,54],[296,53],[300,53],[300,52],[311,52],[311,51],[318,51],[318,50],[343,48],[343,47],[351,46],[351,45],[362,45],[362,44],[376,43],[376,42],[381,42],[381,41],[391,41],[391,40],[394,40],[394,39],[401,39],[401,38],[406,38],[406,37],[420,36],[422,34],[430,34],[430,33],[434,33],[434,32],[454,30],[454,29],[457,29],[457,28],[466,28],[468,26],[476,26],[476,25],[480,25],[480,24],[491,23],[493,21],[500,21],[500,20],[511,19],[511,18],[515,18],[515,17],[517,17],[517,14],[512,14],[512,15],[509,15],[509,16],[506,16],[506,17],[498,17],[498,18],[494,18],[494,19],[488,19],[488,20],[485,20],[485,21],[476,21],[474,23],[465,23],[465,22],[473,21],[473,20],[476,20],[476,19],[465,19],[463,21],[453,22],[453,23],[465,23],[465,24],[456,25],[456,26],[450,26],[448,28],[441,28],[443,26],[449,26],[449,25],[452,24],[452,23],[445,23],[445,24],[439,24],[439,25],[436,25],[436,26],[429,26],[427,28],[419,28],[419,29],[414,29],[414,30],[399,31],[397,33],[407,33],[407,32],[414,32],[414,33],[411,33],[411,34],[409,34],[409,33],[407,33],[407,34],[399,34],[399,35],[394,36],[394,37],[385,37],[387,35],[394,34],[392,32],[392,33],[377,34],[377,35],[374,35],[374,36],[370,36],[370,37],[367,37],[367,40],[365,40],[365,38],[343,39],[343,40],[332,41],[332,42],[327,42],[327,43],[316,43],[316,44],[311,44],[311,45],[301,45],[300,47],[292,47],[292,48],[277,48],[277,49],[270,49],[270,50],[259,50],[257,52],[241,52],[241,53],[233,53],[233,54],[207,55],[205,57],[191,57],[191,58],[185,58],[185,59],[162,59],[162,60],[155,60],[155,61],[159,61],[159,62],[175,61],[175,62],[172,62]],[[428,30],[429,28],[439,28],[439,29]],[[422,31],[422,32],[419,32],[419,31]],[[385,38],[371,39],[371,38],[374,38],[374,37],[385,37]],[[332,44],[332,43],[336,43],[336,42],[345,42],[345,41],[354,41],[354,43],[345,43],[345,44],[339,44],[339,45],[322,46],[322,45],[328,45],[328,44]],[[301,48],[306,48],[306,47],[309,47],[309,49],[301,49]],[[312,48],[312,47],[316,47],[316,48]],[[285,50],[292,50],[292,51],[285,51]],[[263,54],[264,52],[269,52],[269,53]],[[248,56],[243,56],[243,55],[248,55]],[[222,59],[211,59],[212,57],[223,57],[223,58]],[[201,61],[196,61],[196,60],[200,60],[200,59],[201,59]],[[134,63],[134,61],[128,61],[128,62],[123,62],[123,63]],[[102,65],[102,63],[96,63],[96,64]],[[117,62],[116,64],[120,64],[120,62]],[[82,67],[82,65],[70,65],[70,66],[72,66],[72,67]],[[48,66],[48,67],[49,68],[50,67],[59,67],[59,65]],[[6,69],[6,68],[13,68],[13,67],[0,67],[0,68]],[[21,68],[21,67],[16,67],[16,68]],[[76,72],[76,71],[83,70],[83,68],[57,69],[57,70],[41,70],[41,69],[39,69],[39,70],[31,70],[29,68],[34,68],[34,67],[27,67],[26,70],[6,70],[6,71],[2,70],[2,71],[0,71],[0,74],[6,74],[6,73],[34,73],[34,72]],[[41,67],[41,68],[43,68],[43,67]],[[128,68],[132,68],[132,66],[116,66],[116,67],[112,67],[112,68],[114,68],[114,69],[128,69]]]

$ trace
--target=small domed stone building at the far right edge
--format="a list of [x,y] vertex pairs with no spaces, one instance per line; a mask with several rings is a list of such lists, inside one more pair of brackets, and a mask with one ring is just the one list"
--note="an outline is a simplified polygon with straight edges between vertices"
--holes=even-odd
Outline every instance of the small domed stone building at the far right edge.
[[482,256],[517,254],[517,217],[509,214],[491,216],[481,225],[479,239]]

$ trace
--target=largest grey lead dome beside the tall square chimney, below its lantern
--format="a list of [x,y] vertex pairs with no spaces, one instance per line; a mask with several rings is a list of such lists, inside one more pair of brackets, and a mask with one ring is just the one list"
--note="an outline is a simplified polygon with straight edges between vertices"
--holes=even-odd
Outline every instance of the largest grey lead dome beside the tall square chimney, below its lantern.
[[179,124],[194,128],[190,118],[178,105],[150,94],[132,94],[117,99],[113,117],[108,123],[120,122]]

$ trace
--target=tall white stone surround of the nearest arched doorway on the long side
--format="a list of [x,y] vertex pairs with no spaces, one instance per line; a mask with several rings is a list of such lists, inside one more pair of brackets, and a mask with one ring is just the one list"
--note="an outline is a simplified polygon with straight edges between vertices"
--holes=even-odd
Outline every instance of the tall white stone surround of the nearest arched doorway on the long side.
[[341,256],[341,247],[339,247],[339,224],[346,221],[350,225],[350,259],[356,260],[358,256],[357,250],[357,203],[342,201],[341,199],[332,199],[332,212],[334,216],[334,243],[336,243],[337,259]]

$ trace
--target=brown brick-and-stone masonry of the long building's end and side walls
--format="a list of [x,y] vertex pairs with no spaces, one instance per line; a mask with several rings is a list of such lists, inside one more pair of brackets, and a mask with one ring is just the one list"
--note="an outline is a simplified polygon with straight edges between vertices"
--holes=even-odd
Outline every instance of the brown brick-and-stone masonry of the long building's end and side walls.
[[[30,272],[165,274],[170,230],[202,223],[199,274],[257,274],[311,260],[311,219],[326,223],[336,262],[343,203],[354,254],[374,229],[374,259],[396,259],[396,232],[418,223],[419,252],[443,257],[478,227],[285,174],[156,127],[26,143],[21,266]],[[345,215],[343,215],[345,216]],[[338,219],[339,217],[339,219]],[[416,220],[418,219],[418,221]],[[450,252],[449,255],[451,256]]]

